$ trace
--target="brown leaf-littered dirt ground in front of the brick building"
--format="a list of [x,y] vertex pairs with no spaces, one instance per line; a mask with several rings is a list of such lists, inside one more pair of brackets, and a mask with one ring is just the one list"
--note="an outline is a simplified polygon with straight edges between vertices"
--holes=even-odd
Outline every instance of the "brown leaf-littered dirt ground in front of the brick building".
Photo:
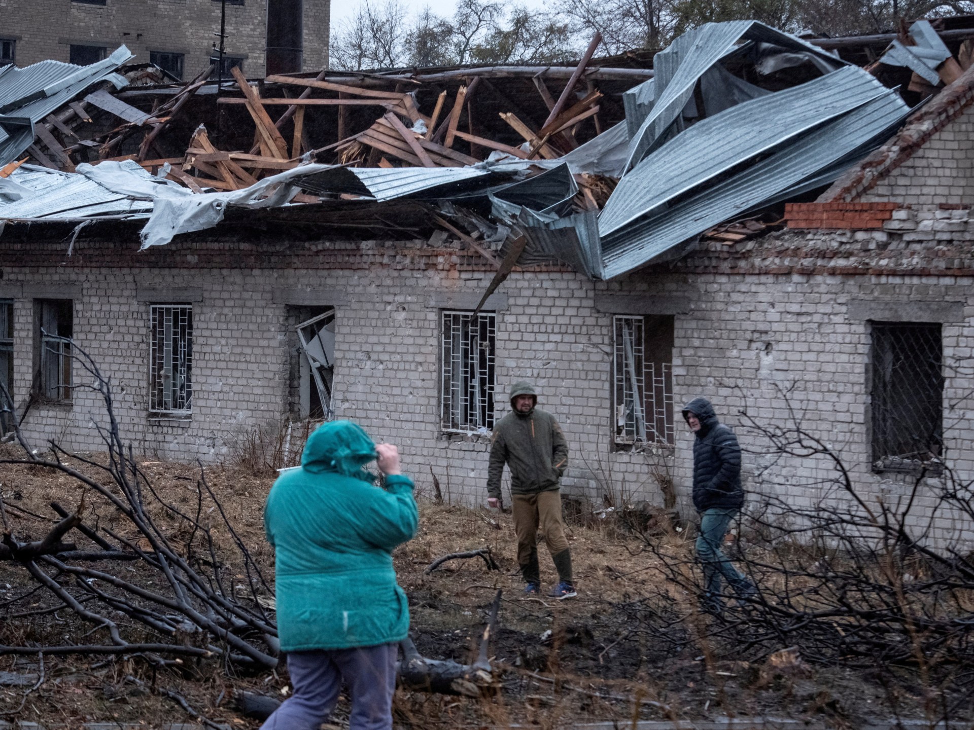
[[[151,459],[141,467],[165,498],[196,507],[198,467]],[[207,467],[205,474],[270,578],[273,551],[264,541],[262,512],[273,474],[255,476],[219,465]],[[36,466],[0,466],[0,483],[20,540],[38,539],[51,528],[56,521],[51,501],[73,510],[81,498],[77,483]],[[436,505],[422,497],[420,502],[419,534],[394,555],[399,583],[409,596],[417,646],[429,658],[472,661],[500,589],[500,627],[491,653],[495,666],[506,671],[501,692],[490,698],[399,690],[397,727],[503,728],[516,722],[560,728],[582,721],[727,715],[824,718],[836,727],[856,727],[868,717],[922,717],[930,705],[929,691],[907,671],[881,680],[869,671],[804,663],[780,671],[768,667],[763,656],[722,654],[718,647],[695,640],[679,651],[655,645],[639,620],[639,611],[652,609],[639,601],[658,590],[662,573],[643,541],[617,524],[597,519],[570,524],[579,597],[557,602],[522,597],[509,515]],[[94,500],[85,515],[89,525],[110,527],[117,521],[112,508]],[[689,550],[683,534],[662,539],[674,543],[672,550]],[[217,530],[216,539],[231,556],[229,535]],[[82,540],[78,542],[80,548]],[[482,547],[490,547],[500,570],[488,570],[482,560],[472,559],[449,562],[431,575],[424,572],[439,556]],[[542,552],[547,587],[555,574]],[[237,577],[242,579],[243,573]],[[0,563],[0,643],[92,640],[81,638],[84,632],[65,610],[42,613],[58,602],[43,590],[31,593],[34,588],[20,566]],[[24,613],[30,615],[19,615]],[[82,721],[134,721],[146,727],[186,721],[191,715],[164,695],[173,689],[214,722],[256,728],[259,722],[236,709],[235,692],[283,699],[289,689],[283,669],[243,675],[231,668],[227,675],[215,663],[188,661],[179,673],[154,673],[137,657],[49,657],[44,682],[26,698],[25,686],[10,684],[9,675],[3,674],[38,675],[39,669],[36,657],[0,656],[0,719],[68,727]],[[126,682],[126,675],[139,677],[143,684]],[[346,712],[343,698],[332,718],[337,726]]]

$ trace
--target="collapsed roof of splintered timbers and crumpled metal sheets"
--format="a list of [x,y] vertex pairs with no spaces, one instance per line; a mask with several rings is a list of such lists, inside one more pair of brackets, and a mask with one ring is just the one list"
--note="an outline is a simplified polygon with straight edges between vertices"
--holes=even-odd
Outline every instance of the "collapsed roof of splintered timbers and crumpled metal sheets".
[[[828,187],[902,125],[907,101],[970,65],[969,49],[957,60],[941,40],[956,46],[956,30],[920,20],[909,35],[868,37],[886,53],[867,68],[826,50],[844,53],[849,39],[752,20],[689,31],[653,70],[639,55],[592,61],[597,39],[574,68],[321,72],[260,86],[235,69],[223,85],[205,73],[132,88],[131,67],[115,73],[124,47],[92,66],[7,67],[0,223],[138,220],[147,247],[216,226],[229,207],[300,206],[310,218],[354,207],[360,227],[363,204],[382,219],[384,203],[411,201],[429,229],[502,272],[557,260],[614,278]],[[556,99],[548,84],[562,79]],[[338,141],[312,146],[326,134]]]

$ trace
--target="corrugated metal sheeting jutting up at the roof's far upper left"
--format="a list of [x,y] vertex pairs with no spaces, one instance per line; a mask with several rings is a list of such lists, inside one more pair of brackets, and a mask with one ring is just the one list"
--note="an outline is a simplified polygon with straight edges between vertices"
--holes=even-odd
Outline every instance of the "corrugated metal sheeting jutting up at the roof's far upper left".
[[[126,81],[115,69],[133,55],[125,46],[104,60],[88,66],[45,60],[26,68],[7,66],[0,72],[0,114],[40,122],[60,106],[101,81],[110,80],[121,88]],[[30,139],[33,139],[31,131]],[[24,143],[21,128],[9,128],[0,119],[0,165],[17,159],[30,140]]]

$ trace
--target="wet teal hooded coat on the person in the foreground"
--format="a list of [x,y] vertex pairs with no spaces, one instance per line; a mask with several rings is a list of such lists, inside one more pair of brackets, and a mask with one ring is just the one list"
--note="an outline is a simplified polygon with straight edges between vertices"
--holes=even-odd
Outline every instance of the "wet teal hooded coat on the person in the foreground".
[[331,421],[308,438],[301,467],[271,488],[264,528],[277,550],[282,651],[406,638],[409,608],[395,583],[393,548],[416,533],[419,514],[409,477],[374,486],[363,466],[375,457],[359,426]]

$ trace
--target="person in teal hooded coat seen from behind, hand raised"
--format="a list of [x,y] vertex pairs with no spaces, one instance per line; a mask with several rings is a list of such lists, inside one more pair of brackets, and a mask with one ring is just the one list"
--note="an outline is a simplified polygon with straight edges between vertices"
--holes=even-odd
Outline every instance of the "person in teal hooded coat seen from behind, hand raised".
[[[383,488],[365,470],[376,460]],[[281,473],[264,527],[275,546],[278,634],[293,695],[262,730],[312,730],[327,720],[342,679],[350,730],[391,730],[398,642],[409,631],[393,549],[416,533],[413,482],[390,444],[349,420],[308,438],[301,466]]]

